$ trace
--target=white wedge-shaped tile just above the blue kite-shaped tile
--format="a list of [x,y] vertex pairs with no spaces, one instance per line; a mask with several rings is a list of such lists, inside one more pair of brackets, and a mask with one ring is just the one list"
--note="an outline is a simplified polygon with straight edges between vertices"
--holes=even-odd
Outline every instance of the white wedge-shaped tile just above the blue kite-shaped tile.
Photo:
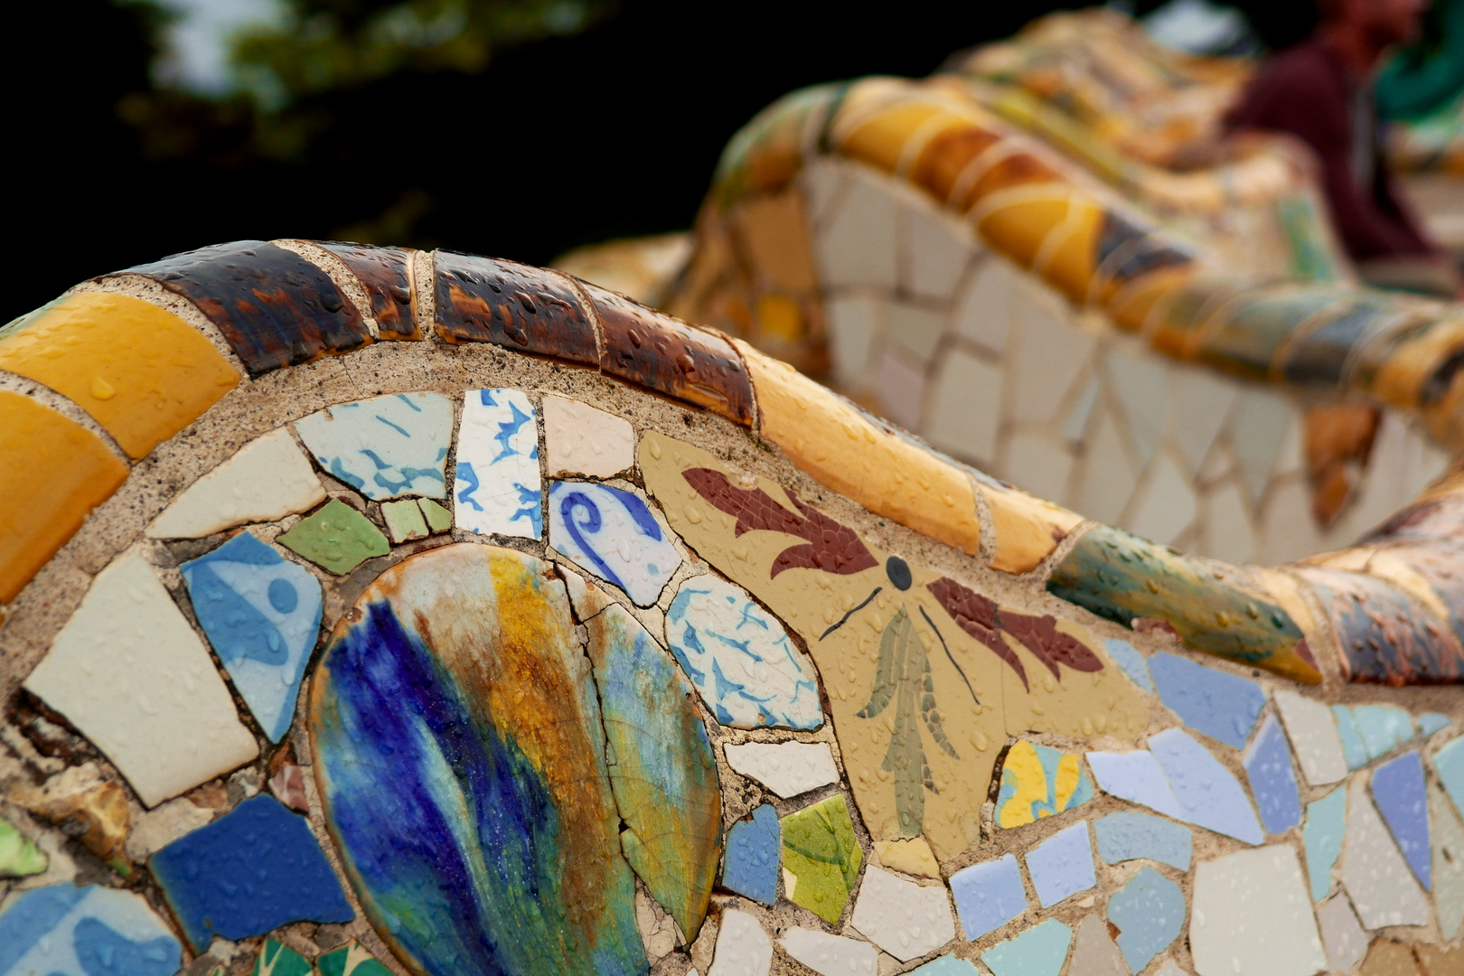
[[193,481],[148,527],[148,537],[202,538],[244,522],[272,522],[324,500],[310,459],[280,427]]

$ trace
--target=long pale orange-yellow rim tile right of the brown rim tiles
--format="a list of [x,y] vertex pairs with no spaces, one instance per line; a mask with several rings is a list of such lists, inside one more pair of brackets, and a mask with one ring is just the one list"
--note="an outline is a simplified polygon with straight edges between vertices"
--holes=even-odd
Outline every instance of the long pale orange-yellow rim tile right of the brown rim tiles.
[[981,524],[966,473],[871,423],[856,408],[733,339],[752,376],[764,438],[820,484],[966,553]]

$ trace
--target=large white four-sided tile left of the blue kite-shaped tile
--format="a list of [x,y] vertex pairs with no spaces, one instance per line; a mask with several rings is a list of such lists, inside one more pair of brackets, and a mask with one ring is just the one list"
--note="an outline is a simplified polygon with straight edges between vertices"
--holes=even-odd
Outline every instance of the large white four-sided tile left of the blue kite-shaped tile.
[[148,806],[259,755],[203,642],[136,553],[97,575],[25,686]]

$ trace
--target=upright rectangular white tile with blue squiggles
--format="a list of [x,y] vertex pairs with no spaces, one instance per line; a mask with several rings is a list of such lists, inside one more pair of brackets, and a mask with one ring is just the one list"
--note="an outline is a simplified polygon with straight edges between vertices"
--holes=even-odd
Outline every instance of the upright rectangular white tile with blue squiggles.
[[543,538],[539,429],[521,391],[463,392],[452,495],[458,528]]

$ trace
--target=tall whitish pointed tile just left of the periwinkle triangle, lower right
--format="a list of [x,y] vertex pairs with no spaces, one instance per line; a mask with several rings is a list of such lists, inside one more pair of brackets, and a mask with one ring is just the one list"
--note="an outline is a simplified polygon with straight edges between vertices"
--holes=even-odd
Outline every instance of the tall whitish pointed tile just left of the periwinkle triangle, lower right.
[[1360,778],[1353,780],[1347,796],[1341,878],[1363,928],[1429,923],[1427,898]]

